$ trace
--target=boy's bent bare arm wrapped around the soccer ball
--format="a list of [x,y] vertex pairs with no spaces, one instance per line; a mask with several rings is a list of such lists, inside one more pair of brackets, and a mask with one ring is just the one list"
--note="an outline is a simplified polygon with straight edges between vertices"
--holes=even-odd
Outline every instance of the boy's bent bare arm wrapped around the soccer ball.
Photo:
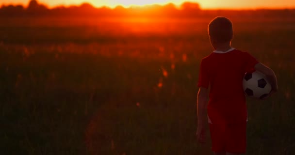
[[255,70],[260,71],[266,75],[272,87],[271,93],[276,93],[278,91],[278,80],[277,80],[275,72],[262,63],[257,63],[254,68]]

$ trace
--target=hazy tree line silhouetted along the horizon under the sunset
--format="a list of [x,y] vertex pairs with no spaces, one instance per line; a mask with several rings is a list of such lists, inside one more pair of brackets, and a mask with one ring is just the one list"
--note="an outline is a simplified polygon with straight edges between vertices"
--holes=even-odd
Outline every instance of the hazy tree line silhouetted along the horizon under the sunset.
[[174,4],[147,5],[142,7],[124,8],[117,6],[96,8],[89,3],[80,6],[57,6],[48,8],[46,5],[31,0],[27,7],[23,5],[2,5],[0,16],[149,16],[149,17],[199,17],[199,16],[255,16],[255,17],[281,17],[295,16],[295,9],[258,9],[258,10],[202,10],[198,3],[184,2],[180,8]]

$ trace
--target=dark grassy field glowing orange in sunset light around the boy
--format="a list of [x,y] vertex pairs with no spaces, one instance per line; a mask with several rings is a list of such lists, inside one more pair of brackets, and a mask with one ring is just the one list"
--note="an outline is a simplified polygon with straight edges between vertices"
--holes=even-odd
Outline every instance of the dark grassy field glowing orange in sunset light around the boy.
[[[279,80],[247,102],[246,155],[294,155],[295,20],[232,20],[232,46]],[[1,21],[1,154],[211,154],[195,137],[210,18]]]

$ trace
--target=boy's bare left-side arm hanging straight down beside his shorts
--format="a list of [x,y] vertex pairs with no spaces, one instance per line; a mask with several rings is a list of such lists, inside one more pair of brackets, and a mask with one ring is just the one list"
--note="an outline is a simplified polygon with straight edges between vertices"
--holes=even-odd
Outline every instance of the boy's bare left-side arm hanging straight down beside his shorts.
[[197,140],[199,143],[204,143],[205,140],[207,97],[208,89],[200,87],[197,93]]

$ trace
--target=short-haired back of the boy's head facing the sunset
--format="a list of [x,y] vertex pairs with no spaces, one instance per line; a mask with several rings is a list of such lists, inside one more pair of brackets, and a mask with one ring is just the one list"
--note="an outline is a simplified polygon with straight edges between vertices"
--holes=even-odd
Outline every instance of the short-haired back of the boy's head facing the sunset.
[[233,37],[232,23],[227,17],[217,16],[209,23],[208,33],[218,43],[229,42]]

